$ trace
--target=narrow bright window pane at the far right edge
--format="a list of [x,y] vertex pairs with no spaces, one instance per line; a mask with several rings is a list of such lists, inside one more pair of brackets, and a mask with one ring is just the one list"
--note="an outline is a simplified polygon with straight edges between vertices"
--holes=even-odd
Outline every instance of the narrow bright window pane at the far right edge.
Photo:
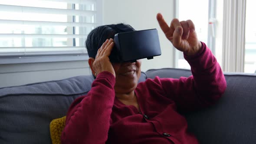
[[244,72],[256,72],[255,0],[246,0]]

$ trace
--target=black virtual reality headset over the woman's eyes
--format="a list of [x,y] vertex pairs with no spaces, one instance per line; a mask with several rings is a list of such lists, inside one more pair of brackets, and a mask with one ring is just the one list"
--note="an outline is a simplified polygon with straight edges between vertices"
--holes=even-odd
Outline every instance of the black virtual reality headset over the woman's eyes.
[[157,29],[117,33],[114,43],[109,56],[111,62],[136,62],[137,59],[153,59],[161,55]]

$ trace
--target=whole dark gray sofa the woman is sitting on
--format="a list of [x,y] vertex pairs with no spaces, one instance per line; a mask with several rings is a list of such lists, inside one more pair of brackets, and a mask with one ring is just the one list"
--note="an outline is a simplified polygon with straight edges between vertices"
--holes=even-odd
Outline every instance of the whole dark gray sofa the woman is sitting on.
[[[151,69],[147,78],[180,78],[184,69]],[[256,74],[225,73],[227,89],[207,109],[183,114],[201,144],[256,144]],[[92,76],[0,88],[0,144],[51,144],[49,123],[91,88]]]

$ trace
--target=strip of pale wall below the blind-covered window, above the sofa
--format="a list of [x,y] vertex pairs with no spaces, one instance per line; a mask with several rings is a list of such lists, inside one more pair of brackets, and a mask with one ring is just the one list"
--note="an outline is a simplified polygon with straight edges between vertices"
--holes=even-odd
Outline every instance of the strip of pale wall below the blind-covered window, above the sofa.
[[1,64],[0,88],[89,74],[87,61]]

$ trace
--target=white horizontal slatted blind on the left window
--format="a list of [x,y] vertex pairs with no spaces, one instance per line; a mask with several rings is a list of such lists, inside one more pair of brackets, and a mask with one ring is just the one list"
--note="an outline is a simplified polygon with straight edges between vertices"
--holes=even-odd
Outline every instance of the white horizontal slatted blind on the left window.
[[0,58],[87,55],[101,0],[0,0]]

